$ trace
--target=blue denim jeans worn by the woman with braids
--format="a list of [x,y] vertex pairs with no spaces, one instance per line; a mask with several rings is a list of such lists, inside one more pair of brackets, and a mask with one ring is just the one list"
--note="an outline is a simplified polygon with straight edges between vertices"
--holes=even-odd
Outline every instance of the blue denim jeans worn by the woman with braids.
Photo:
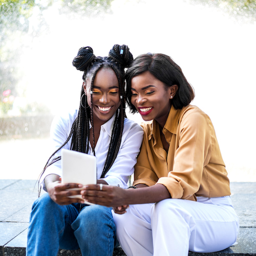
[[32,207],[27,256],[56,256],[59,248],[82,255],[113,255],[116,226],[111,208],[100,205],[58,205],[46,193]]

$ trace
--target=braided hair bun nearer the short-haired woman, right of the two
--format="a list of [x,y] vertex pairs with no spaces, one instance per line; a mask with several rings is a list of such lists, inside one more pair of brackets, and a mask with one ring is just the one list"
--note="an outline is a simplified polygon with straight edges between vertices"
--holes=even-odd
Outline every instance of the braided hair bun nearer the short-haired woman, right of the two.
[[133,62],[133,55],[126,45],[114,45],[109,52],[109,56],[117,61],[123,68],[130,66]]

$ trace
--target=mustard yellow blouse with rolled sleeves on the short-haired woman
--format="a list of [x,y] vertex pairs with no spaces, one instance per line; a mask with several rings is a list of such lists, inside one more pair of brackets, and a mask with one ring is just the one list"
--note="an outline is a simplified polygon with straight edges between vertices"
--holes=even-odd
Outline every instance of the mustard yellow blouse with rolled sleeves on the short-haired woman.
[[160,126],[153,120],[141,124],[144,137],[135,165],[136,184],[163,184],[172,198],[196,201],[196,196],[230,195],[229,179],[214,126],[197,106],[170,109],[163,134],[168,153],[160,138]]

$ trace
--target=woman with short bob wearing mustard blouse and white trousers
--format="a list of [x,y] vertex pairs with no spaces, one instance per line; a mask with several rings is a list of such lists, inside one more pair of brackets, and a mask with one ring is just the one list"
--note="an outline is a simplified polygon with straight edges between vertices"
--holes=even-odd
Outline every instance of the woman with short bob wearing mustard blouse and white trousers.
[[[126,71],[127,102],[144,121],[133,187],[87,185],[89,202],[112,206],[128,256],[187,256],[236,242],[239,219],[210,118],[167,55],[143,54]],[[130,207],[128,208],[128,206]]]

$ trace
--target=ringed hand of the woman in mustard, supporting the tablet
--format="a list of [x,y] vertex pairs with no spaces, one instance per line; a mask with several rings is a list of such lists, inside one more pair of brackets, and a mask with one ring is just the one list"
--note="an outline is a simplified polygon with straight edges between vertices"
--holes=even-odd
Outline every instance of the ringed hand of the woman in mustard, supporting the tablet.
[[82,188],[81,195],[82,198],[90,203],[107,207],[126,205],[126,189],[117,186],[103,184],[86,185]]

